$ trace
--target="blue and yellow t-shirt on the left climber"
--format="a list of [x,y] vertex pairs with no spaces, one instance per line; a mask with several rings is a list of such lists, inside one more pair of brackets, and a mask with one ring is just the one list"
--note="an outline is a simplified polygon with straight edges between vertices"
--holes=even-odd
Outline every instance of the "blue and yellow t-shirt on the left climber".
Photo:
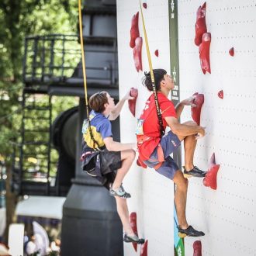
[[[94,110],[90,112],[89,119],[91,121],[91,129],[94,140],[97,141],[99,147],[104,148],[105,143],[103,140],[106,137],[112,137],[112,126],[109,119],[106,118],[106,116],[104,116],[102,113],[95,112]],[[90,132],[88,130],[88,122],[86,125],[86,120],[82,132],[87,146],[91,148],[97,147],[97,144],[94,144],[90,136]]]

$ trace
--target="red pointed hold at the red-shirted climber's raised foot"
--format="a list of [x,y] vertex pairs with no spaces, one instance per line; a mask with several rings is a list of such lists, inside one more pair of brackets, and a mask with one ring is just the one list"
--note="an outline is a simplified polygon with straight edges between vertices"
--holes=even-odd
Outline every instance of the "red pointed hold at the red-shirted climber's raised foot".
[[206,172],[206,177],[203,178],[203,185],[216,190],[217,189],[217,173],[219,169],[220,169],[220,164],[215,164],[215,154],[213,153],[209,163],[209,169]]

